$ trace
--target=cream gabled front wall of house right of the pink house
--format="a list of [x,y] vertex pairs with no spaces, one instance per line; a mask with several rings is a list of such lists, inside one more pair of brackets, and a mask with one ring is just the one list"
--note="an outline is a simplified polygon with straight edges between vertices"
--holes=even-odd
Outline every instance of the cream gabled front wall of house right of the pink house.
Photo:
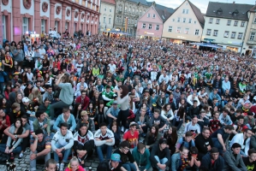
[[[183,9],[188,9],[188,14],[187,11],[183,14]],[[178,21],[178,18],[180,18],[180,21]],[[186,19],[186,21],[183,22],[183,19]],[[189,23],[190,19],[191,23]],[[169,27],[172,27],[171,32],[169,32]],[[177,31],[178,27],[181,28],[180,32]],[[188,32],[185,32],[187,28],[189,30]],[[196,30],[199,30],[198,35],[195,35]],[[194,15],[193,9],[188,2],[185,2],[182,3],[181,7],[177,9],[173,15],[170,15],[170,18],[167,21],[164,22],[162,37],[200,42],[202,32],[203,28],[200,26],[196,15]]]

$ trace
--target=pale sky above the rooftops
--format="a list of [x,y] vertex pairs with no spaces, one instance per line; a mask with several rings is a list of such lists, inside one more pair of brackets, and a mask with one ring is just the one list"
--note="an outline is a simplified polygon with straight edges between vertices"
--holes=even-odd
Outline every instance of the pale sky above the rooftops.
[[[147,0],[148,2],[151,2],[150,0]],[[160,5],[164,5],[165,7],[169,7],[172,9],[176,9],[179,7],[184,0],[154,0],[156,3]],[[218,3],[247,3],[247,4],[255,4],[255,0],[211,0],[211,2],[218,2]],[[207,6],[209,3],[209,0],[190,0],[191,3],[193,3],[195,6],[197,6],[202,13],[206,13]]]

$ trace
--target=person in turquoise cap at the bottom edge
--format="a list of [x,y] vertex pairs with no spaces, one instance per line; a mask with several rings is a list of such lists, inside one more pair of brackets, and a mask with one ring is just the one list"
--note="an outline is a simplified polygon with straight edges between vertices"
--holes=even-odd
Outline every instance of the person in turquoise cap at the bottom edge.
[[99,162],[97,171],[126,171],[121,164],[121,156],[119,154],[113,153],[111,155],[110,161],[104,160],[104,162]]

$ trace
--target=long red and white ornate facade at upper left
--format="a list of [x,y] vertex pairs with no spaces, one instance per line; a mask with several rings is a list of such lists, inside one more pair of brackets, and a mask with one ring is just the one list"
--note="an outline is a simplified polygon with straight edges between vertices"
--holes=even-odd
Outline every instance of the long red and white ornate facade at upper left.
[[98,32],[100,0],[2,0],[0,40],[21,41],[25,32],[57,32],[65,29]]

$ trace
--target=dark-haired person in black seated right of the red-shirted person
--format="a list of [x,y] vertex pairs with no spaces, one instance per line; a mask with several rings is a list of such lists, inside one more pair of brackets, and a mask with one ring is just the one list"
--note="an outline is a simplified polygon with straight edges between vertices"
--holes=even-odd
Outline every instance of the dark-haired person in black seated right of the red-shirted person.
[[152,150],[155,144],[158,144],[159,139],[161,139],[162,134],[158,132],[158,125],[153,125],[151,130],[146,133],[145,144],[146,148]]

